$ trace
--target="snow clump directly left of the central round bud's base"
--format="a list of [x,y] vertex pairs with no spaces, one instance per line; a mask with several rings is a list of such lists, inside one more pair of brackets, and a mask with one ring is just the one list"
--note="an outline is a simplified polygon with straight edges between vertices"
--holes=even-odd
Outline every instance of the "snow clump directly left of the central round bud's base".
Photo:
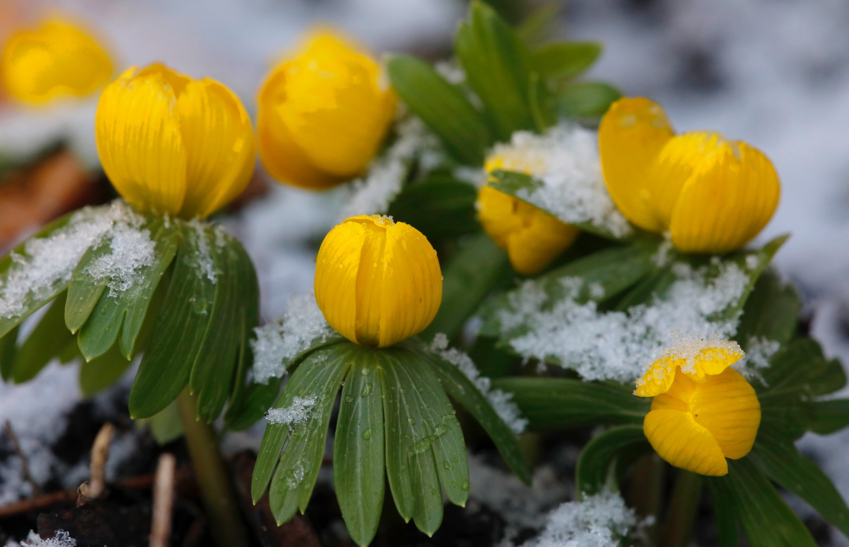
[[285,364],[308,349],[317,339],[326,339],[334,331],[318,309],[312,294],[295,294],[280,321],[256,327],[251,340],[254,352],[254,381],[268,383],[284,377]]

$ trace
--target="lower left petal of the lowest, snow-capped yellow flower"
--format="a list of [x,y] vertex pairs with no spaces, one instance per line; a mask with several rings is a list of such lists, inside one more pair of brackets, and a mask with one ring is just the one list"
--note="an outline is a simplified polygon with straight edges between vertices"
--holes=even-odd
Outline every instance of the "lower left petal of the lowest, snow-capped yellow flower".
[[689,412],[651,410],[643,421],[643,431],[655,452],[673,466],[700,475],[728,474],[719,444]]

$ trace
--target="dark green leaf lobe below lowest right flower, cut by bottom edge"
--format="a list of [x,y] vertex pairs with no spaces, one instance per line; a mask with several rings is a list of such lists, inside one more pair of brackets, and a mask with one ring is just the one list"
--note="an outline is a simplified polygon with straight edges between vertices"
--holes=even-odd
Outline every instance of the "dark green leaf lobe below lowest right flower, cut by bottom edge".
[[751,547],[814,547],[811,533],[750,459],[728,460],[728,475],[705,477],[715,500],[733,508]]

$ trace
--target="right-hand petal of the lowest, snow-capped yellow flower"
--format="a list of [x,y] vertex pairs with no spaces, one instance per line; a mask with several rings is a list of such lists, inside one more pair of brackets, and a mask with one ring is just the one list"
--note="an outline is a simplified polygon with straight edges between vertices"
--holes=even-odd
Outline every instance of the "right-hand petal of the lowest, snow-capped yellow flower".
[[690,399],[695,421],[711,433],[725,457],[737,460],[749,454],[761,424],[755,389],[732,368],[695,385]]

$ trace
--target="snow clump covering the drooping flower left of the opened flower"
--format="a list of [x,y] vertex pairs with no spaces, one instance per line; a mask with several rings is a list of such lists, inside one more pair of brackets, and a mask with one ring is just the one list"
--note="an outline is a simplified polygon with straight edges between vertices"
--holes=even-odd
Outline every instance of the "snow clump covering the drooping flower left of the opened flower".
[[517,197],[552,213],[568,224],[590,223],[616,237],[631,226],[610,199],[601,174],[594,131],[569,123],[545,135],[517,131],[509,144],[497,144],[489,158],[502,159],[501,168],[531,173],[543,186],[522,188]]

